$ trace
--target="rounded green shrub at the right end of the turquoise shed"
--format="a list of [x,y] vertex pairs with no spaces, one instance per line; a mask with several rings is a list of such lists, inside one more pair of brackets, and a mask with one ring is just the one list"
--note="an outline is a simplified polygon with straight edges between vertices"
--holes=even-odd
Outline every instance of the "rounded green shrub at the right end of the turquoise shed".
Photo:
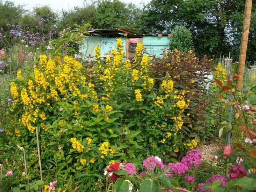
[[188,52],[193,49],[192,35],[189,29],[184,26],[177,26],[170,38],[170,49],[177,49],[182,52]]

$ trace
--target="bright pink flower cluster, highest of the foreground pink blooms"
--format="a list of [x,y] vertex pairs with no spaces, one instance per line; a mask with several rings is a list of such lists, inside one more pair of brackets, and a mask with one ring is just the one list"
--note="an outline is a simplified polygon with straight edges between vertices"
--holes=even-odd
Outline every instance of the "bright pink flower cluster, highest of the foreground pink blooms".
[[187,152],[181,162],[186,164],[189,168],[192,168],[192,166],[196,167],[201,162],[201,156],[202,154],[198,150],[193,149]]

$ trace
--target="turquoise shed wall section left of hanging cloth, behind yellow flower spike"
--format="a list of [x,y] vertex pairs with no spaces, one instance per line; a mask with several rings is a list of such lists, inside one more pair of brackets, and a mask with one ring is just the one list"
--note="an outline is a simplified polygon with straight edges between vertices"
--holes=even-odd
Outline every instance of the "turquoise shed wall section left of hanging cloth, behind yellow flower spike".
[[[100,54],[104,55],[110,52],[112,49],[116,49],[116,39],[117,38],[101,38],[100,40]],[[124,52],[126,52],[126,38],[122,37],[122,44]]]

